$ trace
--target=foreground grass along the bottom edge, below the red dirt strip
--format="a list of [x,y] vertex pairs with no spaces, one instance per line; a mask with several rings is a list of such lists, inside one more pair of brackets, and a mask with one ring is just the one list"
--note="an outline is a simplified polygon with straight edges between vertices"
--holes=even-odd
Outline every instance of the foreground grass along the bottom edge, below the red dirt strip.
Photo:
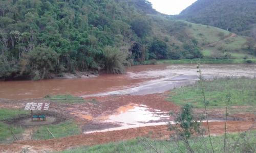
[[[250,131],[242,134],[227,135],[227,149],[229,152],[251,152],[256,149],[256,131]],[[224,152],[224,136],[212,137],[215,152]],[[207,146],[207,150],[204,146]],[[177,146],[179,144],[179,147]],[[210,152],[208,137],[196,137],[189,140],[191,148],[195,152]],[[156,151],[157,150],[157,151]],[[74,148],[62,153],[82,153],[82,152],[187,152],[185,146],[180,142],[167,140],[152,140],[147,138],[137,138],[117,143],[108,143],[96,146],[84,146]]]

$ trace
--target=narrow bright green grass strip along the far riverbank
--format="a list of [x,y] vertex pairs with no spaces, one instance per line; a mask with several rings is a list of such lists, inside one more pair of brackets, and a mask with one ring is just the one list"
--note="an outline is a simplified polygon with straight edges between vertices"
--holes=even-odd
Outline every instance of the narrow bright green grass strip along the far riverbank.
[[[250,63],[256,63],[256,59],[249,59]],[[157,64],[247,64],[248,60],[214,60],[214,59],[183,59],[183,60],[158,60]]]

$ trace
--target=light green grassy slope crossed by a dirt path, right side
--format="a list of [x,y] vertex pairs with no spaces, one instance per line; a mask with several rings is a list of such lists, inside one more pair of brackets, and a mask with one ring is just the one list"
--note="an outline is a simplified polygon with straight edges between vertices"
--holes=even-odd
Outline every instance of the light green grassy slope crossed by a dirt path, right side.
[[[187,28],[187,32],[189,33],[189,36],[198,40],[199,44],[203,47],[202,52],[206,58],[210,57],[210,55],[215,52],[230,53],[232,57],[236,59],[242,59],[245,56],[248,56],[249,58],[254,57],[246,53],[246,51],[244,50],[246,37],[242,37],[242,36],[230,37],[225,41],[218,42],[213,46],[204,47],[204,45],[207,45],[216,41],[220,41],[223,38],[230,36],[231,33],[216,27],[190,23],[187,21],[184,21],[184,22],[190,25]],[[220,33],[223,33],[222,37],[219,36]],[[220,48],[222,48],[222,50],[220,50]]]

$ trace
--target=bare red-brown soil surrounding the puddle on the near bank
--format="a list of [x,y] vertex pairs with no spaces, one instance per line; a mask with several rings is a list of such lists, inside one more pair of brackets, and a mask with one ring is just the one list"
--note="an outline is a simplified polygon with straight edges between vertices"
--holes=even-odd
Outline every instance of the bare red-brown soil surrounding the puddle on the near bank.
[[[96,99],[96,103],[78,103],[78,104],[62,104],[51,103],[50,110],[56,113],[65,114],[68,118],[73,118],[81,126],[87,124],[89,120],[95,117],[104,117],[118,112],[118,109],[122,106],[129,104],[146,105],[148,108],[158,109],[162,112],[173,111],[177,113],[180,109],[173,103],[166,100],[167,93],[162,94],[150,94],[150,95],[112,95],[104,97],[93,97]],[[88,98],[86,100],[91,100]],[[29,101],[45,101],[44,99],[27,99],[27,100],[4,100],[0,99],[0,108],[13,108],[23,109],[25,104]],[[95,100],[94,100],[95,101]],[[232,114],[230,114],[227,127],[228,132],[242,132],[252,129],[256,129],[252,126],[255,123],[256,117],[253,113],[247,111],[248,108],[232,108]],[[196,113],[204,113],[204,110],[196,109]],[[225,110],[215,109],[209,110],[209,117],[214,119],[223,119]],[[203,123],[205,126],[205,123]],[[211,134],[223,134],[224,122],[210,122]],[[99,124],[100,126],[100,124]],[[167,131],[166,125],[159,126],[146,126],[138,127],[134,129],[93,133],[93,134],[80,134],[76,136],[50,139],[50,140],[27,140],[16,141],[11,144],[0,144],[0,152],[20,152],[25,147],[29,147],[35,152],[64,150],[71,147],[83,146],[83,145],[96,145],[114,141],[121,141],[126,139],[132,139],[139,136],[145,136],[148,133],[158,135],[159,132],[163,137],[168,138],[170,132]],[[158,137],[159,138],[159,137]]]

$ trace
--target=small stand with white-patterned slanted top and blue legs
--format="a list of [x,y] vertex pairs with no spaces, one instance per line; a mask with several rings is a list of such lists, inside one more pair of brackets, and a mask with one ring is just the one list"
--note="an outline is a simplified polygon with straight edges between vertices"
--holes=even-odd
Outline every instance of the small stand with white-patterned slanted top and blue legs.
[[50,103],[27,103],[24,110],[31,111],[31,120],[46,120],[46,111],[49,110]]

